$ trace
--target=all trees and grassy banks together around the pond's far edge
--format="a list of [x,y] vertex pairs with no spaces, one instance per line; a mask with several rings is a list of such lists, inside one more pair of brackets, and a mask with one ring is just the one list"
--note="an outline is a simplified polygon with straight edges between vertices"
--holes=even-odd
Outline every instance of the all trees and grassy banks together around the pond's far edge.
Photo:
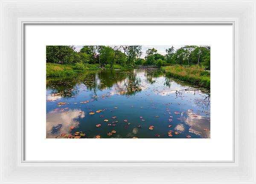
[[46,46],[46,76],[61,77],[100,69],[127,69],[137,66],[162,67],[166,75],[210,88],[210,47],[183,46],[147,49],[141,58],[142,46]]

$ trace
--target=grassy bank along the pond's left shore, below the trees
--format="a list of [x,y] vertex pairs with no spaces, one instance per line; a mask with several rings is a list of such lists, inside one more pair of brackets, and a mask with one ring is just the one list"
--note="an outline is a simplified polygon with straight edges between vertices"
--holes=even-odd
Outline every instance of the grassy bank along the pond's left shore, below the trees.
[[[105,66],[106,69],[110,69],[111,66],[108,64]],[[121,66],[113,65],[112,69],[127,69],[133,68],[132,66]],[[88,70],[100,70],[99,64],[83,64],[76,63],[75,65],[68,64],[55,64],[46,63],[46,77],[63,77],[68,75],[76,75],[79,72],[85,72]]]

